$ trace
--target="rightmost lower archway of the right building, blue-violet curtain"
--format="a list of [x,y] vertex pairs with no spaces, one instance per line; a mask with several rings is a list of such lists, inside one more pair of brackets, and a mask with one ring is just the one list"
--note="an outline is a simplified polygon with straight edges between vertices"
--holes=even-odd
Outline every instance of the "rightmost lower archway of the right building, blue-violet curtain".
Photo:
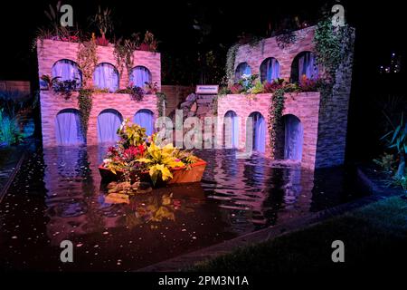
[[304,128],[301,121],[294,115],[285,115],[284,121],[284,159],[302,159],[302,144],[304,140]]

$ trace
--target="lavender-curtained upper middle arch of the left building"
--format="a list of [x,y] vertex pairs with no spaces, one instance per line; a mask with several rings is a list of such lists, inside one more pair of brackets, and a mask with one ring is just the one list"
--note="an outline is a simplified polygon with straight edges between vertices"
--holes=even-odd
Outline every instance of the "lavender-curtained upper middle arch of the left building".
[[99,89],[116,92],[118,90],[118,70],[113,64],[99,63],[93,73],[93,84]]

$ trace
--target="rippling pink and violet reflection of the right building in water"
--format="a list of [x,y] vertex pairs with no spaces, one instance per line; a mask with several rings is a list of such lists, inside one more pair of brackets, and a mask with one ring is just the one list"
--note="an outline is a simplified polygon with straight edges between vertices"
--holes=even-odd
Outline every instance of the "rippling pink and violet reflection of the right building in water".
[[[279,220],[306,214],[310,208],[313,171],[276,168],[270,160],[253,156],[236,160],[234,151],[216,151],[213,195],[225,212],[233,231],[244,233],[273,225]],[[227,154],[227,157],[225,155]]]

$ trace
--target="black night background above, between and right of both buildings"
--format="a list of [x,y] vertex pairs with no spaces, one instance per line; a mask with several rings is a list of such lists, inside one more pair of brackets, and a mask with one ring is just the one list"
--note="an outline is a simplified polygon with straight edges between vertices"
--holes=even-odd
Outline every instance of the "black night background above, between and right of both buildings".
[[[37,64],[31,51],[37,27],[48,23],[43,11],[56,1],[2,3],[0,29],[0,80],[28,80],[37,86]],[[298,16],[316,24],[321,7],[330,10],[336,1],[64,1],[73,7],[74,22],[87,30],[87,19],[98,5],[113,10],[115,34],[153,32],[160,41],[163,84],[194,84],[199,81],[199,55],[212,51],[216,65],[224,67],[228,47],[242,33],[266,36],[285,19]],[[346,21],[356,28],[353,87],[348,123],[347,160],[371,160],[380,149],[385,131],[382,110],[389,96],[405,102],[406,18],[401,3],[393,1],[356,4],[341,1]],[[323,8],[324,9],[324,8]],[[193,25],[208,32],[203,36]],[[96,30],[95,30],[96,32]],[[108,35],[109,36],[109,35]],[[379,74],[379,66],[390,63],[391,53],[402,56],[402,72]],[[202,54],[201,54],[202,55]],[[405,107],[395,105],[397,110]],[[393,109],[388,109],[392,114]]]

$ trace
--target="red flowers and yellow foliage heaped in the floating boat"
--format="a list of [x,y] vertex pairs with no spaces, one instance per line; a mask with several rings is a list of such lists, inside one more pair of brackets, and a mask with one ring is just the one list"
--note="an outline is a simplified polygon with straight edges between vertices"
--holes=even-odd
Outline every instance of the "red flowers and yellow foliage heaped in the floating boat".
[[[169,181],[175,178],[177,182],[200,181],[204,173],[205,162],[187,150],[180,150],[172,144],[159,145],[156,135],[147,137],[146,129],[137,124],[123,121],[118,128],[118,140],[116,146],[110,147],[102,165],[118,179],[126,181],[139,181],[140,177],[148,176],[154,185],[159,180]],[[192,175],[193,179],[185,179],[181,176],[182,171],[191,170],[194,165],[202,165],[198,174]],[[193,172],[194,173],[194,172]],[[136,180],[136,181],[135,181]],[[185,181],[186,180],[186,181]]]

